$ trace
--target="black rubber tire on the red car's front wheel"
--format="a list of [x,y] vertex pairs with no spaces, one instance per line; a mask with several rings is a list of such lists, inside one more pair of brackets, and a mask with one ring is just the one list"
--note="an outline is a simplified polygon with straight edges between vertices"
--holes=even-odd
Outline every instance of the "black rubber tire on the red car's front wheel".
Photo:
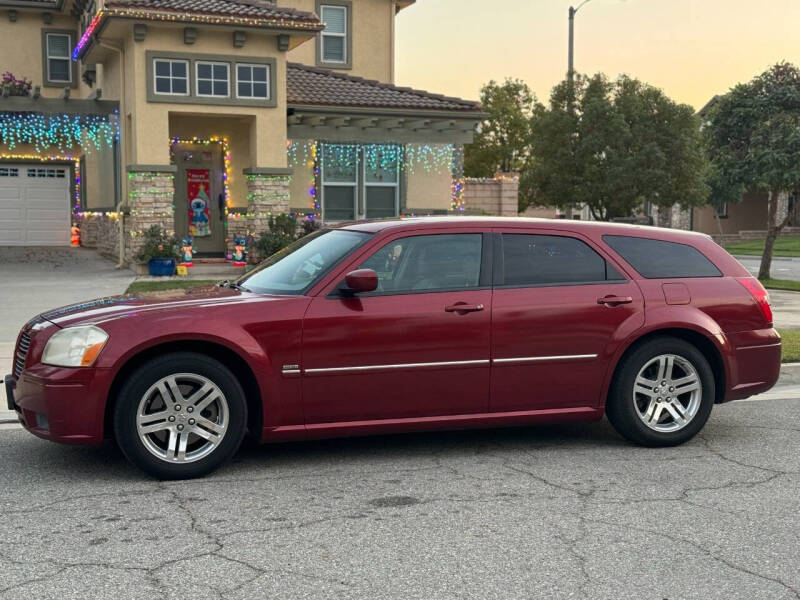
[[[139,414],[140,403],[147,403],[147,401],[143,401],[143,398],[147,394],[148,398],[155,397],[157,398],[155,402],[161,402],[160,398],[162,396],[160,393],[158,393],[157,396],[153,396],[153,394],[156,393],[152,391],[153,386],[163,381],[165,378],[171,378],[178,374],[182,375],[173,381],[177,381],[180,384],[179,389],[182,393],[191,395],[191,392],[197,391],[191,389],[192,377],[197,378],[199,387],[201,387],[203,381],[209,381],[213,386],[216,386],[216,390],[221,393],[221,398],[219,398],[219,394],[217,394],[216,397],[219,399],[214,401],[210,408],[205,409],[214,410],[216,408],[216,416],[213,416],[211,420],[213,422],[220,421],[226,426],[220,439],[216,441],[215,445],[210,449],[208,449],[209,442],[204,442],[204,438],[199,437],[197,434],[189,434],[190,429],[194,431],[200,427],[200,425],[195,426],[195,422],[201,420],[204,422],[209,421],[209,419],[202,418],[206,416],[207,413],[203,411],[194,413],[194,415],[186,414],[186,411],[189,410],[188,406],[190,405],[190,403],[187,402],[184,402],[185,406],[183,407],[180,407],[178,402],[175,402],[171,406],[167,406],[166,402],[164,402],[163,410],[165,415],[168,414],[170,417],[173,417],[172,410],[180,411],[182,408],[183,411],[174,413],[177,417],[172,419],[174,421],[173,423],[167,424],[167,417],[165,417],[163,419],[163,425],[165,425],[164,431],[158,432],[157,434],[154,433],[151,436],[144,436],[148,440],[147,442],[143,441],[142,436],[139,434],[137,414]],[[188,377],[189,379],[181,379],[182,377]],[[186,381],[189,381],[189,383],[186,384],[189,385],[188,388],[182,387],[183,382]],[[183,392],[184,389],[188,391]],[[213,387],[212,391],[215,391]],[[211,395],[215,394],[208,394],[206,397],[210,397]],[[174,398],[171,397],[170,401],[173,399]],[[184,401],[185,400],[186,397],[184,396]],[[202,399],[198,401],[198,408],[201,408],[201,403]],[[222,408],[221,403],[224,403],[225,408]],[[176,409],[176,406],[179,408]],[[203,409],[201,408],[201,410]],[[220,414],[224,414],[224,418],[220,417]],[[154,413],[153,416],[156,417],[157,415],[158,413]],[[196,421],[194,419],[191,421],[186,420],[188,417],[192,416],[198,417],[198,419]],[[159,421],[161,421],[161,419],[159,419]],[[181,422],[186,424],[181,425]],[[193,425],[188,425],[190,422]],[[180,427],[183,431],[172,431],[173,428],[177,427]],[[114,433],[117,444],[128,460],[157,479],[192,479],[211,473],[236,453],[242,443],[246,428],[247,402],[242,386],[239,384],[236,377],[222,363],[204,354],[194,352],[165,354],[164,356],[153,358],[142,364],[132,372],[123,383],[114,407]],[[198,458],[190,459],[191,462],[170,462],[168,458],[157,456],[145,446],[145,443],[148,443],[151,447],[158,450],[158,444],[163,443],[166,446],[164,451],[169,455],[170,452],[167,448],[170,443],[170,436],[179,436],[183,433],[191,440],[188,448],[192,448],[193,446],[196,448],[203,448],[205,443],[205,448],[208,450],[208,453],[196,453]],[[204,434],[209,435],[207,432],[204,432]],[[164,440],[156,439],[156,436],[162,436]],[[190,456],[188,450],[186,456]],[[174,456],[173,459],[175,459]]]

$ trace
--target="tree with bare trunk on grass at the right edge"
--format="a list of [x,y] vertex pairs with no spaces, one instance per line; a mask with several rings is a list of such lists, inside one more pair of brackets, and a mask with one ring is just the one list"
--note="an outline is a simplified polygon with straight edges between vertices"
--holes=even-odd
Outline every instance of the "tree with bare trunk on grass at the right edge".
[[712,202],[740,202],[745,191],[767,192],[767,239],[758,270],[770,276],[782,195],[800,186],[800,70],[778,63],[722,96],[706,128],[712,162]]

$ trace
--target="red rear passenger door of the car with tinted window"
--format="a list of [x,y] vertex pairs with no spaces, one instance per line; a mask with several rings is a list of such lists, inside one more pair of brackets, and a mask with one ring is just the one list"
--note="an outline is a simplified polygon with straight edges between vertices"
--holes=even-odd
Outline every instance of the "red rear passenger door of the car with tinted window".
[[618,344],[644,323],[638,286],[563,231],[499,230],[491,410],[596,406]]

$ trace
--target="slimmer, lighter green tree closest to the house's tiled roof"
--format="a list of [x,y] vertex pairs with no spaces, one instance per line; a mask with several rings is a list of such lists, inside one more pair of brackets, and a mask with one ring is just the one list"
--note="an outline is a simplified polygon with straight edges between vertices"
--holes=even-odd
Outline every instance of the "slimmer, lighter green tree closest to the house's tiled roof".
[[[490,81],[481,88],[481,104],[487,113],[472,144],[464,149],[467,177],[492,177],[495,173],[520,172],[530,156],[531,115],[536,99],[519,79],[503,84]],[[522,186],[520,186],[522,188]],[[520,204],[526,206],[520,190]]]

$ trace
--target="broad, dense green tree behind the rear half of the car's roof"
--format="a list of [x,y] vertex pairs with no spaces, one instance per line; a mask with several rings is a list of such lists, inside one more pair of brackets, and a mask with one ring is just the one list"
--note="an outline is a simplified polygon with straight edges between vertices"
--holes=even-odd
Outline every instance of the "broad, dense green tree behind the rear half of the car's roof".
[[694,110],[630,77],[576,77],[534,109],[526,177],[537,204],[586,206],[597,220],[632,216],[648,201],[702,204],[706,166]]

